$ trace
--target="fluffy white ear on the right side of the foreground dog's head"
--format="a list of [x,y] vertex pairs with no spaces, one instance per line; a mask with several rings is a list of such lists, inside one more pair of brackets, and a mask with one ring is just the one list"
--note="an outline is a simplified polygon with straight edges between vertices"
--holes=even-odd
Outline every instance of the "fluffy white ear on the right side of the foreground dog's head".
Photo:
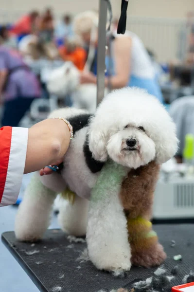
[[178,139],[174,123],[160,133],[159,140],[156,142],[156,162],[162,164],[171,159],[178,149]]

